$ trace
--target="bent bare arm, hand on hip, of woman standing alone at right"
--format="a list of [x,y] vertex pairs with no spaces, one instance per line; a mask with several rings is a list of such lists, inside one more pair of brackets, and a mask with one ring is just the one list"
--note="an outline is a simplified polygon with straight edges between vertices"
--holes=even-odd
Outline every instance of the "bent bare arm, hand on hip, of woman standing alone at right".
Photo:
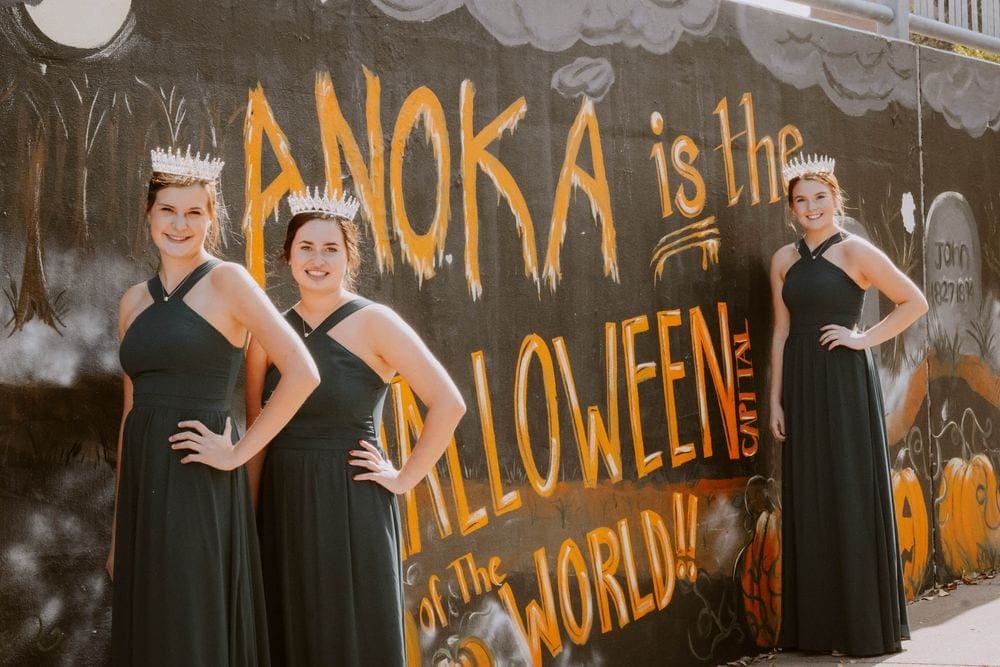
[[822,327],[820,342],[833,349],[843,345],[862,350],[895,338],[927,312],[927,299],[885,253],[862,239],[852,239],[848,261],[857,268],[862,283],[874,285],[896,304],[881,322],[864,333],[829,324]]

